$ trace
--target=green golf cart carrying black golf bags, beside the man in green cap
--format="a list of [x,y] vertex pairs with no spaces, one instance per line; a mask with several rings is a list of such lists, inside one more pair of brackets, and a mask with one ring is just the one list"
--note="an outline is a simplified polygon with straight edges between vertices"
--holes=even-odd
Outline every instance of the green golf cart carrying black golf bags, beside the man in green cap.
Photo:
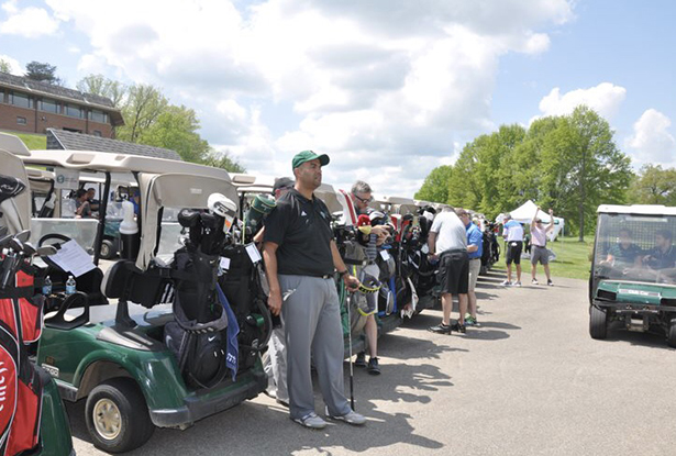
[[[99,262],[107,218],[65,218],[68,201],[57,198],[55,218],[31,221],[38,245],[64,251],[75,241],[90,255],[91,269],[75,277],[82,299],[45,327],[36,359],[65,400],[87,399],[95,446],[131,451],[155,426],[187,429],[265,390],[270,316],[257,266],[229,233],[237,197],[228,173],[99,152],[31,151],[21,159],[63,176],[60,186],[95,175],[110,194],[121,174],[140,189],[138,209],[130,202],[124,213],[137,234],[124,235],[114,263]],[[108,202],[101,199],[103,213]],[[45,262],[54,294],[64,296],[82,265]],[[74,320],[86,323],[64,330]]]

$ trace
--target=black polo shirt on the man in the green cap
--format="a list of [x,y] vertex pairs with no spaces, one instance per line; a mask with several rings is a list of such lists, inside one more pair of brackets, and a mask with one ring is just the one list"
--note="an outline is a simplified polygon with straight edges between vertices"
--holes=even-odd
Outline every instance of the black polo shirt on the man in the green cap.
[[321,277],[333,274],[331,213],[312,196],[288,191],[265,220],[265,242],[279,245],[277,273]]

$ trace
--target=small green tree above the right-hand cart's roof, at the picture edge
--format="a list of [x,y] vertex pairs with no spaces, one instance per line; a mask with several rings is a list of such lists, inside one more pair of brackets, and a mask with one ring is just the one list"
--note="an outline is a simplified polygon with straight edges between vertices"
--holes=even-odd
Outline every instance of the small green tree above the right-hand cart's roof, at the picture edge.
[[645,165],[629,188],[629,202],[676,205],[676,168]]

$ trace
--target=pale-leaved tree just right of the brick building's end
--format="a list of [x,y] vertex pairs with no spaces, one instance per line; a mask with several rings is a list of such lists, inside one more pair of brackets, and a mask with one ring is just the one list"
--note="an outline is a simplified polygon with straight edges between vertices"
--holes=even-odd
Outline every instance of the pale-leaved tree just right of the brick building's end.
[[118,129],[118,138],[130,143],[138,142],[144,131],[157,121],[168,104],[169,101],[153,86],[130,87],[122,105],[124,125]]

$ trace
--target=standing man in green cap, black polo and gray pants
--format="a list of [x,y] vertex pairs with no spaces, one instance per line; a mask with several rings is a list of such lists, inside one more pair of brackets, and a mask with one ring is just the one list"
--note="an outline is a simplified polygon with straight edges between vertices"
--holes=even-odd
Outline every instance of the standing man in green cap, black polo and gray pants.
[[331,230],[331,213],[314,190],[322,183],[328,155],[312,151],[292,160],[296,185],[277,201],[265,223],[263,258],[269,281],[268,307],[281,313],[286,330],[290,418],[311,429],[326,422],[314,411],[310,359],[317,367],[326,416],[361,425],[343,386],[343,327],[335,274],[350,289],[358,280],[341,258]]

